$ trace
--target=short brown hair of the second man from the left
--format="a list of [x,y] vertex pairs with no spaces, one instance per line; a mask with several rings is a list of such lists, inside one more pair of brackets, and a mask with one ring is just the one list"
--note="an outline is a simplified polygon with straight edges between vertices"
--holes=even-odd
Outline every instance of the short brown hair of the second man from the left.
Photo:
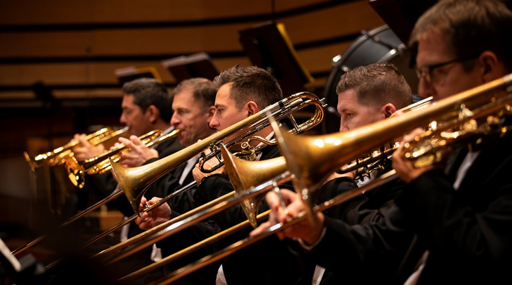
[[213,82],[207,78],[189,78],[181,81],[173,89],[172,96],[178,94],[186,89],[192,89],[194,101],[200,103],[203,110],[206,112],[210,106],[215,105],[215,95],[217,88]]

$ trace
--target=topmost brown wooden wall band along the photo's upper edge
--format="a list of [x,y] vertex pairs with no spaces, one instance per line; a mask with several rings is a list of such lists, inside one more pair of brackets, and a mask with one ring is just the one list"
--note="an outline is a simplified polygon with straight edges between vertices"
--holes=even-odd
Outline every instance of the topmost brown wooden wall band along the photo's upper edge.
[[[281,1],[277,1],[281,2]],[[322,1],[290,1],[291,9]],[[325,2],[325,1],[324,1]],[[0,24],[136,23],[195,21],[205,18],[241,17],[271,12],[271,0],[65,0],[0,2]],[[281,7],[276,5],[276,7]]]

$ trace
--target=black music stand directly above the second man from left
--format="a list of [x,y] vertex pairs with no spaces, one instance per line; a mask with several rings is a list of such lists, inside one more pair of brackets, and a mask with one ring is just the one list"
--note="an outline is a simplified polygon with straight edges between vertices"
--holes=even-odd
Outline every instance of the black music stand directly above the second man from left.
[[162,65],[171,72],[176,83],[188,78],[208,78],[213,80],[219,74],[206,52],[198,52],[188,56],[177,56],[162,61]]

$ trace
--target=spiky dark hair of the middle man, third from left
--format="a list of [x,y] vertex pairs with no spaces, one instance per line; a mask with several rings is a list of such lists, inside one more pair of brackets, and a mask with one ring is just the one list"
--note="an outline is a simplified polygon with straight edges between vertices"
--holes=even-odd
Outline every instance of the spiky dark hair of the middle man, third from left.
[[283,98],[281,86],[275,77],[256,66],[235,65],[222,71],[213,79],[213,83],[217,89],[226,83],[233,83],[230,98],[235,100],[238,109],[249,101],[254,101],[263,109]]

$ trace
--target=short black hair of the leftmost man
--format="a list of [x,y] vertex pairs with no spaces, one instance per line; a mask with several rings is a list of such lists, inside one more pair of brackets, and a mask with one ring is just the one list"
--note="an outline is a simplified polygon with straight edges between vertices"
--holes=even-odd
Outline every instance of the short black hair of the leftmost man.
[[172,100],[169,89],[154,78],[137,78],[122,85],[122,93],[134,96],[134,104],[142,112],[154,105],[160,111],[160,118],[166,122],[173,116]]

